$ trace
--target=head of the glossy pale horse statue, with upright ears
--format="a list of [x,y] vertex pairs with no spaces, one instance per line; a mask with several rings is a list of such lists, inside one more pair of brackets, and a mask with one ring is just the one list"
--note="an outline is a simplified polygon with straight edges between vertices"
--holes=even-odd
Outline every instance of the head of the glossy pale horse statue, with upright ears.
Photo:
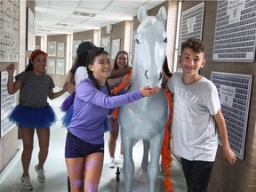
[[[156,16],[148,16],[145,6],[141,6],[138,20],[140,26],[137,28],[135,45],[135,73],[132,74],[137,77],[136,80],[140,80],[140,85],[160,86],[167,44],[164,29],[165,9],[161,7]],[[141,71],[143,71],[143,76],[141,76]]]

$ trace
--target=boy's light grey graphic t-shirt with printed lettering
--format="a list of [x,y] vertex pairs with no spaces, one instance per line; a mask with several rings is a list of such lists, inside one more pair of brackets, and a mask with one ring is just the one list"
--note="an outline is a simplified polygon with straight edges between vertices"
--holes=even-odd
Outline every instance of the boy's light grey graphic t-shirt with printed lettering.
[[215,160],[218,137],[214,115],[220,109],[216,86],[204,76],[195,84],[182,83],[182,72],[176,72],[167,86],[174,93],[174,154],[190,161]]

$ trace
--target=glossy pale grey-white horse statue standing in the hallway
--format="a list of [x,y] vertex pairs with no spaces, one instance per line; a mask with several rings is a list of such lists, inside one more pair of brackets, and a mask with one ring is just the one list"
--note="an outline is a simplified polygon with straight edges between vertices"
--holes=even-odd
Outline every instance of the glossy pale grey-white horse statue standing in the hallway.
[[[132,85],[128,92],[132,92],[144,85],[160,86],[163,78],[162,68],[167,44],[164,29],[165,9],[161,7],[156,16],[148,16],[145,7],[141,6],[138,20],[140,20],[140,26],[137,28]],[[132,146],[134,141],[138,139],[149,140],[150,142],[150,162],[148,164],[147,161],[145,164],[148,165],[150,192],[156,191],[156,178],[159,172],[159,157],[164,138],[164,125],[168,116],[168,102],[164,89],[161,89],[152,97],[145,97],[119,109],[121,139],[124,146],[123,174],[125,192],[132,191],[134,175]],[[144,155],[146,154],[146,156],[148,156],[148,148],[144,150]]]

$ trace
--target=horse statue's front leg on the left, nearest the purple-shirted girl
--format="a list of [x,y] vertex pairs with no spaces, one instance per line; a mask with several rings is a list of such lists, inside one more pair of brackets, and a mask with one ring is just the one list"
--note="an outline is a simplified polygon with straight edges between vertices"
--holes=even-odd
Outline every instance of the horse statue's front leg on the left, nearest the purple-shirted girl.
[[133,147],[134,139],[127,137],[127,134],[125,134],[125,130],[122,129],[121,140],[124,148],[124,165],[123,165],[124,191],[132,192],[132,180],[134,175],[132,147]]

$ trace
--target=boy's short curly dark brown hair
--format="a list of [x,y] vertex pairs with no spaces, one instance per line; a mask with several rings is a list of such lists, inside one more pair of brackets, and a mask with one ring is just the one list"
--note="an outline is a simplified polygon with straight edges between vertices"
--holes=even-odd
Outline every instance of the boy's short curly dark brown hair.
[[180,54],[184,52],[185,48],[191,48],[194,52],[204,52],[204,43],[200,39],[188,38],[181,44]]

